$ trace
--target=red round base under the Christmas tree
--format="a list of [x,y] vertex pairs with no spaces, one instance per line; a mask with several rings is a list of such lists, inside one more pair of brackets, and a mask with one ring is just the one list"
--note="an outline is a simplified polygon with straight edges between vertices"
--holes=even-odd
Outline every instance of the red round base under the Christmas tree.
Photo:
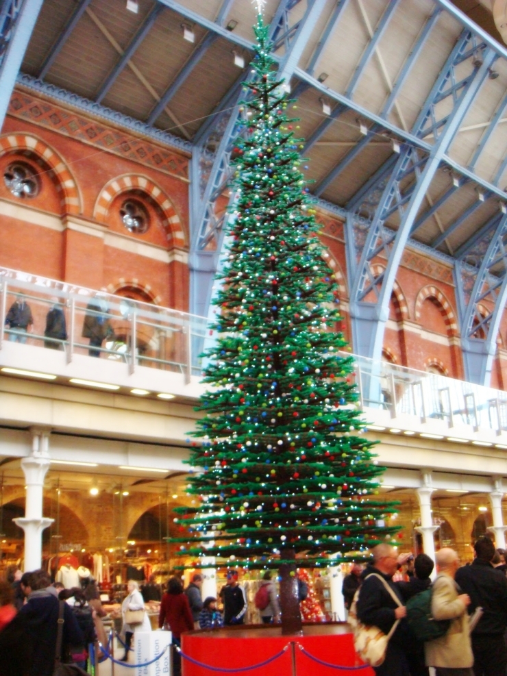
[[[248,671],[215,671],[260,664],[273,658],[284,647],[284,653],[264,666]],[[225,627],[212,631],[189,631],[182,636],[182,652],[206,664],[204,668],[182,659],[182,676],[373,676],[373,669],[351,671],[336,669],[312,660],[312,657],[337,666],[359,666],[350,627],[345,623],[308,624],[303,636],[282,636],[280,626],[251,625]]]

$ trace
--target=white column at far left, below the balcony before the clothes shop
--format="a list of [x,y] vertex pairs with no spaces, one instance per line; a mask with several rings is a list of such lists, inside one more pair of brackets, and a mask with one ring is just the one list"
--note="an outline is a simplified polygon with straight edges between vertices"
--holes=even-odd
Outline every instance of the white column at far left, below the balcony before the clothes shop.
[[49,434],[46,427],[32,427],[32,453],[21,460],[25,474],[25,516],[13,521],[25,531],[25,571],[40,568],[42,562],[42,531],[54,519],[42,516],[42,490],[44,477],[49,469]]

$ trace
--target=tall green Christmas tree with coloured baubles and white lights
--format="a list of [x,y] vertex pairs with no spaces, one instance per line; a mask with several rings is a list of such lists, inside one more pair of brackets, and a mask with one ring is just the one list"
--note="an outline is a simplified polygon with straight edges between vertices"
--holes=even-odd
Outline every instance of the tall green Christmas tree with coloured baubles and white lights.
[[340,352],[338,285],[261,12],[255,32],[218,338],[206,353],[201,445],[190,458],[188,493],[200,504],[181,508],[189,535],[171,541],[193,567],[210,556],[217,565],[282,566],[295,597],[296,556],[299,568],[327,566],[332,553],[356,559],[395,529],[383,521],[393,510],[371,497],[382,468],[362,436],[353,359]]

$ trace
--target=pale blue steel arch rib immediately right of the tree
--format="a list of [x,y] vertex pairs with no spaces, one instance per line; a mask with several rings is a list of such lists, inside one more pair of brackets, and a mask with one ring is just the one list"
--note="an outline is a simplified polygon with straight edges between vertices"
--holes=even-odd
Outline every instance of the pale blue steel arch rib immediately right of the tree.
[[[449,69],[452,71],[459,62],[459,59],[454,57],[462,53],[462,49],[466,46],[467,36],[462,36],[452,54],[452,61],[447,62]],[[450,57],[449,57],[450,59]],[[393,175],[388,180],[380,199],[378,199],[378,207],[375,210],[375,215],[371,222],[366,237],[364,239],[364,246],[360,252],[359,264],[356,266],[355,275],[349,277],[350,284],[350,314],[352,318],[352,328],[354,336],[354,351],[358,354],[368,356],[374,360],[379,360],[382,354],[382,344],[384,338],[384,328],[388,318],[389,301],[393,291],[393,284],[397,273],[397,268],[401,260],[410,230],[417,217],[417,212],[421,206],[424,195],[428,190],[430,183],[438,170],[438,166],[443,159],[443,156],[449,149],[453,142],[456,133],[462,123],[463,118],[467,114],[472,101],[480,92],[484,80],[488,75],[488,69],[495,60],[495,53],[488,49],[484,53],[484,60],[480,68],[475,68],[471,72],[471,76],[467,81],[466,87],[460,93],[460,97],[456,100],[453,97],[454,108],[452,112],[447,115],[447,121],[442,129],[442,132],[436,140],[428,160],[421,169],[415,172],[416,187],[412,192],[410,201],[406,205],[401,206],[400,210],[403,212],[399,227],[395,233],[384,229],[385,214],[393,205],[401,203],[401,181],[406,176],[410,164],[419,163],[420,157],[417,149],[404,146],[399,159],[393,171]],[[425,104],[423,115],[419,116],[417,125],[415,126],[415,134],[424,132],[425,121],[428,119],[428,112],[434,108],[434,97],[443,89],[445,83],[449,79],[449,72],[445,69],[432,89],[432,95]],[[432,114],[432,113],[431,113]],[[360,205],[356,206],[356,210],[360,211]],[[354,240],[348,244],[354,247]],[[381,251],[386,255],[386,269],[381,274],[373,271],[373,261]],[[351,251],[349,258],[358,258],[358,251]],[[354,273],[354,271],[352,271]],[[373,298],[367,297],[367,291],[373,292]]]

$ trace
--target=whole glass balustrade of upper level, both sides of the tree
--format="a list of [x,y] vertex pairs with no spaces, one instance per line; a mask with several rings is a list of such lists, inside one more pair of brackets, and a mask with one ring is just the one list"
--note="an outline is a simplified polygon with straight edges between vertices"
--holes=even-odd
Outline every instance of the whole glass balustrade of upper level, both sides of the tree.
[[[29,305],[33,324],[5,325],[3,341],[25,342],[64,351],[66,360],[82,354],[125,364],[201,375],[199,355],[214,337],[208,320],[132,298],[0,268],[0,310],[8,317],[13,303]],[[63,320],[62,320],[63,317]],[[58,332],[58,327],[63,333]],[[349,356],[347,354],[347,356]],[[355,356],[356,383],[364,409],[391,416],[417,416],[422,423],[446,421],[449,427],[507,430],[507,392]]]

